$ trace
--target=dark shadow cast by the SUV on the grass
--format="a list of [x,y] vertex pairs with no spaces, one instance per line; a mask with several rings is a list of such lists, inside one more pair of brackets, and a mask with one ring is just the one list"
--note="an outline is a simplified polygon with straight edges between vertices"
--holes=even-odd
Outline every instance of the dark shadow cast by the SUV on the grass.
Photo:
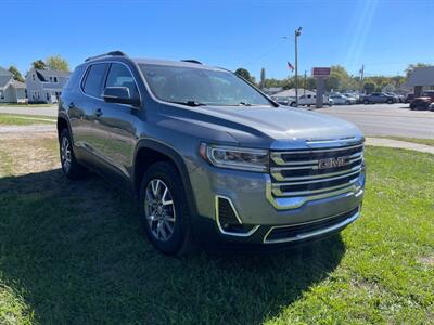
[[0,281],[42,324],[259,324],[345,252],[336,235],[279,253],[166,257],[144,238],[135,199],[59,169],[0,179]]

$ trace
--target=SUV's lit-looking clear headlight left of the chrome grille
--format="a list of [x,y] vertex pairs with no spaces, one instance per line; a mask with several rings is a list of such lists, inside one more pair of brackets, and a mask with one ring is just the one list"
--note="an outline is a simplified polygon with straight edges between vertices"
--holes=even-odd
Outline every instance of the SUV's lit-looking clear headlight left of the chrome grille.
[[199,152],[216,167],[261,172],[268,170],[269,155],[266,150],[201,143]]

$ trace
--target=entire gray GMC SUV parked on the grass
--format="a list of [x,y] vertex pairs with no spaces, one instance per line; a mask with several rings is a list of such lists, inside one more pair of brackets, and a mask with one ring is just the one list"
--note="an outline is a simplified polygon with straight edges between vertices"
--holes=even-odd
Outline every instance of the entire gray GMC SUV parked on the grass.
[[193,243],[288,246],[360,216],[363,135],[354,125],[280,106],[197,61],[90,57],[65,86],[58,130],[66,177],[92,170],[137,196],[164,253]]

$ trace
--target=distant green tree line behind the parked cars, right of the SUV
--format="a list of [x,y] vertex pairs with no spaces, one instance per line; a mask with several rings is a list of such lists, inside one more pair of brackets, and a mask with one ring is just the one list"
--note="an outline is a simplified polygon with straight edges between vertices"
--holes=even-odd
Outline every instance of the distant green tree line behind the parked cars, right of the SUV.
[[[362,91],[371,93],[374,91],[382,91],[384,88],[391,87],[393,89],[400,88],[406,79],[411,75],[417,67],[431,66],[426,63],[410,64],[405,69],[405,75],[387,76],[369,76],[363,77],[353,76],[341,65],[333,65],[330,67],[330,77],[326,80],[327,91]],[[288,77],[284,79],[266,78],[265,68],[260,69],[260,80],[257,82],[255,77],[245,68],[238,68],[235,74],[245,80],[256,84],[260,89],[270,87],[282,87],[283,89],[295,88],[295,77]],[[309,90],[316,89],[315,79],[311,76],[298,76],[298,88]]]

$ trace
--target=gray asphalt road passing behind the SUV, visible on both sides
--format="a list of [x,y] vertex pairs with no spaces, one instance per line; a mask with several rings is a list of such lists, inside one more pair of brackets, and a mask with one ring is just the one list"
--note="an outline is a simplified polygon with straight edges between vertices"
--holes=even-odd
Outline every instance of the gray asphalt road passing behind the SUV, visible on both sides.
[[[52,107],[0,106],[0,113],[56,116]],[[395,135],[434,139],[434,112],[410,110],[408,104],[342,105],[320,108],[316,112],[330,114],[356,123],[367,136]]]

